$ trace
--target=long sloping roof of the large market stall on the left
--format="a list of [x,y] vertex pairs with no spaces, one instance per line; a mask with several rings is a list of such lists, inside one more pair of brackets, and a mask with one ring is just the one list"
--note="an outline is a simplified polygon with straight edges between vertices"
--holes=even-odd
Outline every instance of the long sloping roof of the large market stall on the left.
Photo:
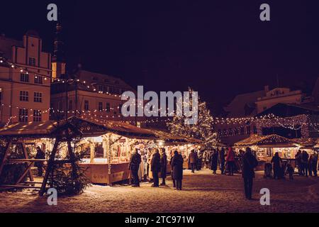
[[127,138],[164,140],[168,143],[201,143],[201,140],[175,136],[163,131],[138,128],[119,121],[89,121],[72,116],[62,121],[13,123],[0,129],[0,137],[55,138],[62,128],[72,127],[84,137],[115,133]]

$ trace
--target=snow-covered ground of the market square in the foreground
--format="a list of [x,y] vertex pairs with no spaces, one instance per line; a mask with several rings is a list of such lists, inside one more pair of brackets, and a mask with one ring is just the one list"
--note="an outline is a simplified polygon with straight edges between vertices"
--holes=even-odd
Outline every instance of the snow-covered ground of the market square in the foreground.
[[[244,199],[242,178],[213,175],[208,170],[184,172],[182,191],[151,188],[142,183],[106,187],[94,185],[79,196],[60,197],[57,206],[48,206],[36,192],[1,192],[0,212],[319,212],[319,179],[295,177],[293,181],[263,179],[254,182],[254,200]],[[261,206],[259,191],[269,188],[271,205]]]

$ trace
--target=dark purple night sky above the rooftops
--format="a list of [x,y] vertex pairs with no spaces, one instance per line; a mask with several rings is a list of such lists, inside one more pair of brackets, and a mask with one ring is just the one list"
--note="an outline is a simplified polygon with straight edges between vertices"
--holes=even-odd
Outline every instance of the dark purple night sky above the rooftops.
[[[62,13],[69,68],[121,77],[147,90],[198,90],[222,104],[264,85],[306,87],[319,76],[319,1],[4,1],[0,33],[37,30],[52,50]],[[270,22],[259,6],[271,6]]]

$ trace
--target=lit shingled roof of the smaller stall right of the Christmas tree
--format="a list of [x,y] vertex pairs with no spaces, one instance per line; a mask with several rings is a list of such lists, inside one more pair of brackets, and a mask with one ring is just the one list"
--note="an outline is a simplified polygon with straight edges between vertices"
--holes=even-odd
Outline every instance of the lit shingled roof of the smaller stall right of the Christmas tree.
[[245,140],[235,143],[236,147],[246,147],[257,145],[260,147],[269,147],[269,148],[294,148],[296,147],[295,142],[288,138],[284,138],[280,135],[251,135]]

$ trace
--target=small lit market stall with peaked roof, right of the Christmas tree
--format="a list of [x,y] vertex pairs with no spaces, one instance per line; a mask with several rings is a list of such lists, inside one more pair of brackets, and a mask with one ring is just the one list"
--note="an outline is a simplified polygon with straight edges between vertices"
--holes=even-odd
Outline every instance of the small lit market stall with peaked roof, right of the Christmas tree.
[[263,168],[264,163],[270,162],[275,153],[283,160],[293,161],[298,152],[298,145],[293,140],[280,135],[251,135],[245,140],[235,143],[237,151],[249,147],[255,153],[259,162],[258,168]]

